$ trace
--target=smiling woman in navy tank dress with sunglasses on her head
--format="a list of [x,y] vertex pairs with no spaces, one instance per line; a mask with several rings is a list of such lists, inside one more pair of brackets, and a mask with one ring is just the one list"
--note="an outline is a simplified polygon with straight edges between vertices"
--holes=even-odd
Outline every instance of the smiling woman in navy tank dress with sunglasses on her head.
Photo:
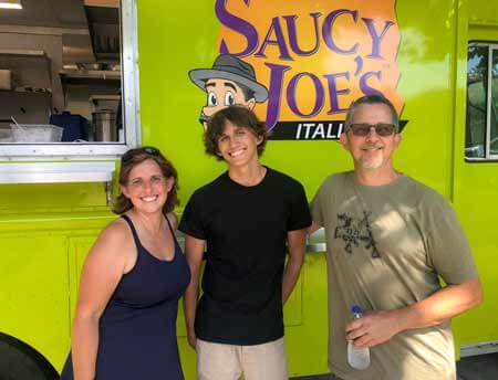
[[121,163],[122,218],[86,257],[61,379],[180,380],[176,316],[190,272],[174,235],[176,170],[152,147]]

